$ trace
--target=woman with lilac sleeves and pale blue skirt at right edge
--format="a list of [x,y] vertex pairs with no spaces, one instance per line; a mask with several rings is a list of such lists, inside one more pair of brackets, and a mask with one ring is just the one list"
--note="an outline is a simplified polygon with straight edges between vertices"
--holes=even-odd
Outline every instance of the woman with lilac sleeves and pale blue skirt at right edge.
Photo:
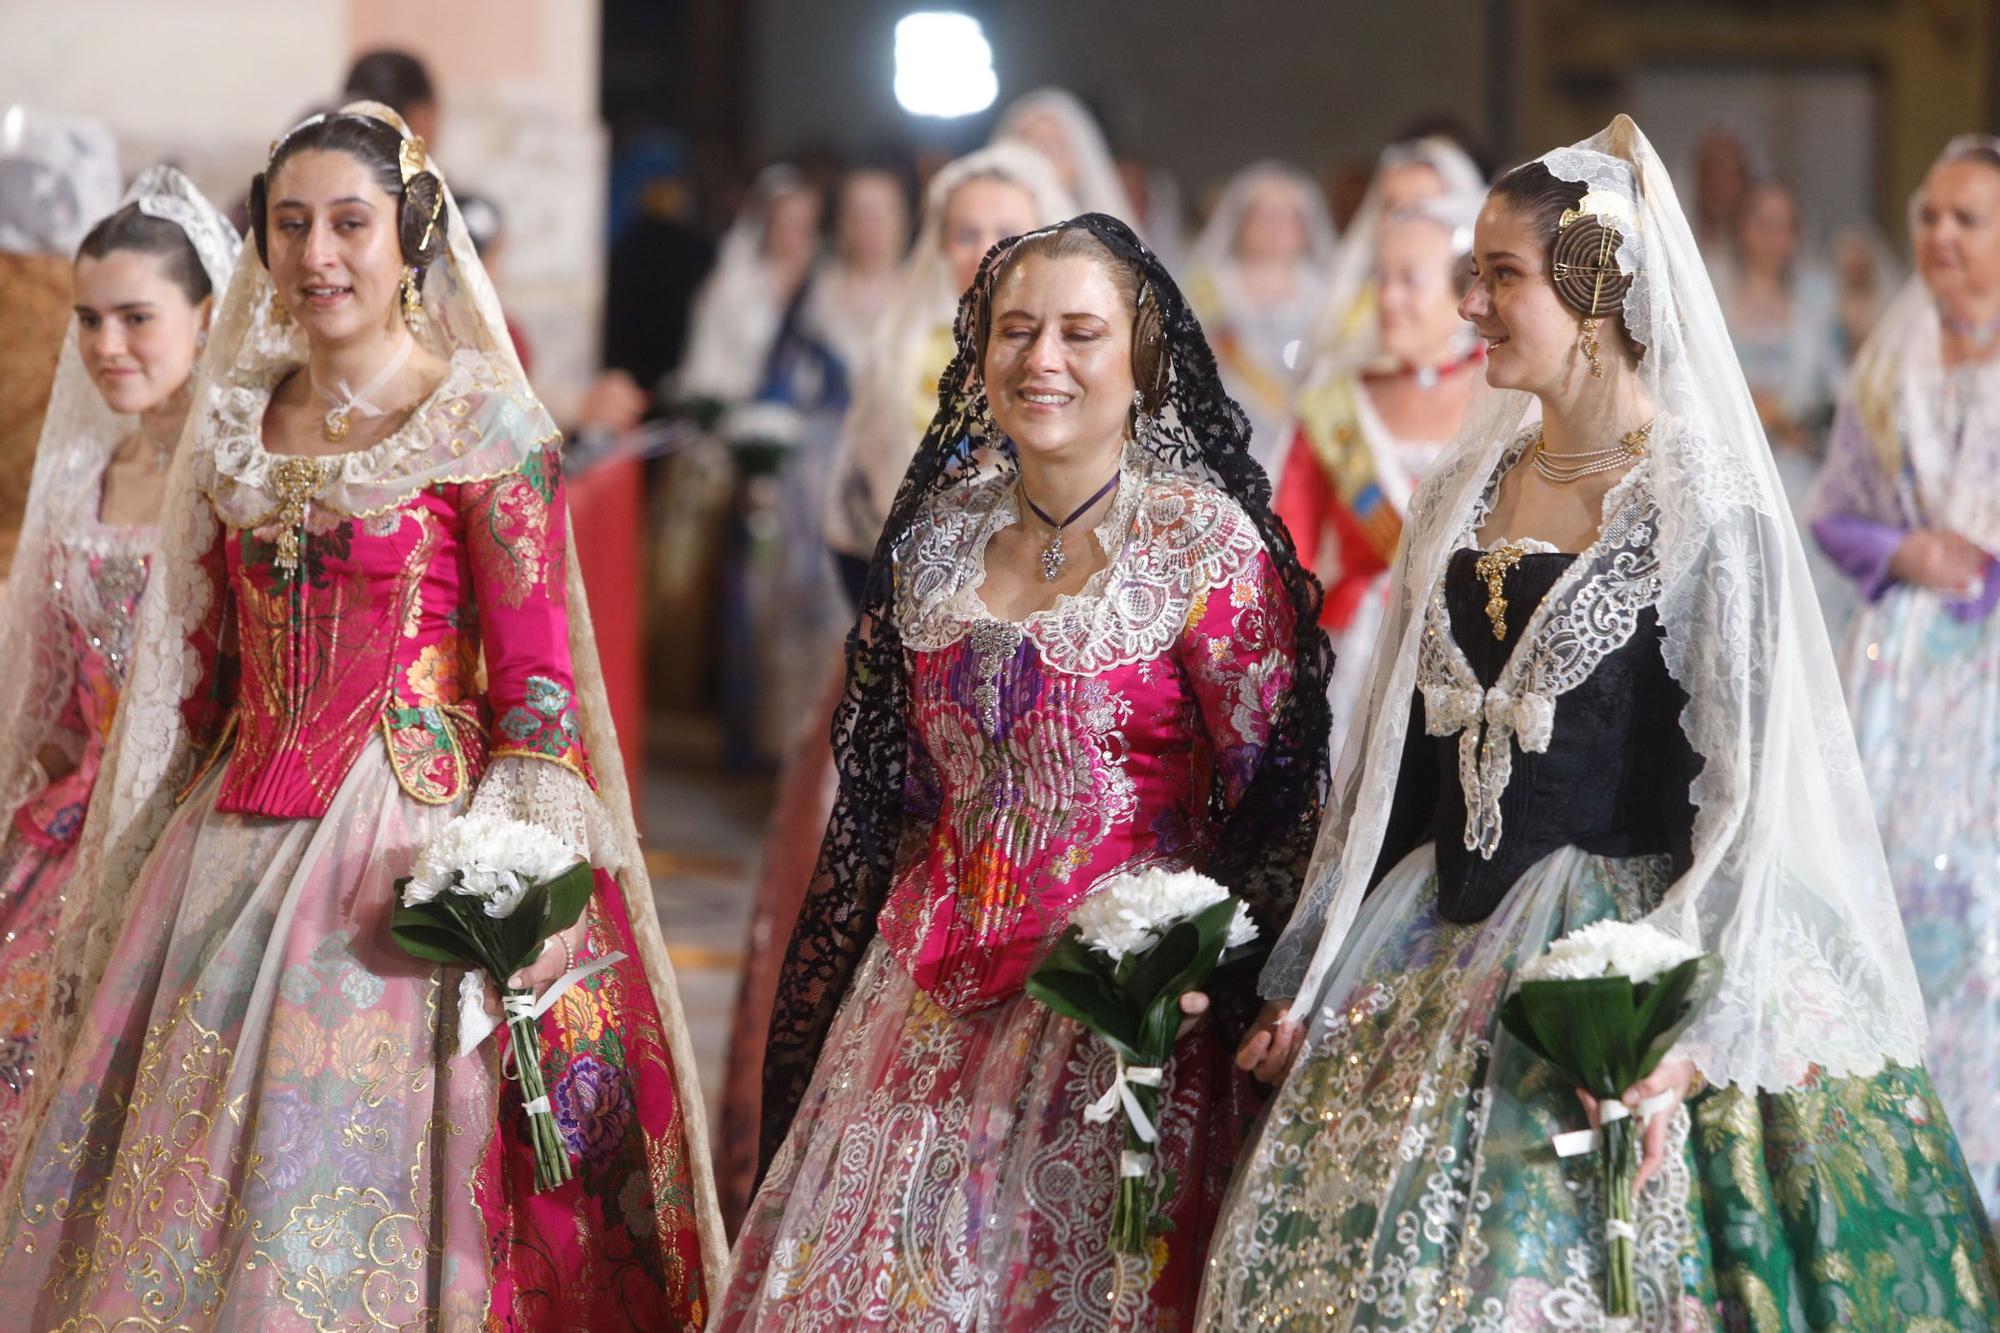
[[1848,703],[1930,1013],[1930,1067],[2000,1217],[2000,138],[1912,200],[1918,274],[1854,362],[1812,530],[1862,604]]

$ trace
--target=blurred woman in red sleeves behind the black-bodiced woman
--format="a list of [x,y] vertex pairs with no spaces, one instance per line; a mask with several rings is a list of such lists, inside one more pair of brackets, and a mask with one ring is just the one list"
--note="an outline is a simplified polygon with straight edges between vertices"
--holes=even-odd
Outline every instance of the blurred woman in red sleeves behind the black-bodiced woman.
[[1284,426],[1274,504],[1326,584],[1336,751],[1396,596],[1390,564],[1410,496],[1458,434],[1486,360],[1458,316],[1482,194],[1438,194],[1370,222],[1374,316],[1314,362]]

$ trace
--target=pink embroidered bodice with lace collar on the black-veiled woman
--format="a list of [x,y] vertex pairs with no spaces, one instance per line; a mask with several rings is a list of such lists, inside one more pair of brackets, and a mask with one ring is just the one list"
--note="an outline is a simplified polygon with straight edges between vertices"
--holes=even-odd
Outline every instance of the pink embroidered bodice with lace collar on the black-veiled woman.
[[[940,494],[898,550],[912,719],[906,849],[882,939],[954,1013],[1016,995],[1094,885],[1200,867],[1292,675],[1292,608],[1244,512],[1128,452],[1076,596],[1022,622],[980,600],[1012,476]],[[1076,536],[1070,538],[1072,542]]]

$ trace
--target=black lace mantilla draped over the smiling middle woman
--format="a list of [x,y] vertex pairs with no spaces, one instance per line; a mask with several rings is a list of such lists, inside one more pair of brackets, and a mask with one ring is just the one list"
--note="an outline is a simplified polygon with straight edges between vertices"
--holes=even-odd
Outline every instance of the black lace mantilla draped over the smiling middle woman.
[[[1326,677],[1334,656],[1318,628],[1320,584],[1300,566],[1292,538],[1272,514],[1270,480],[1250,458],[1250,424],[1222,390],[1202,326],[1172,276],[1116,218],[1092,212],[1058,228],[1086,228],[1114,254],[1138,264],[1146,278],[1146,300],[1158,302],[1168,366],[1158,426],[1146,432],[1144,444],[1166,464],[1214,482],[1242,506],[1292,600],[1300,636],[1292,693],[1272,719],[1270,745],[1242,801],[1224,809],[1220,791],[1212,797],[1220,833],[1206,867],[1208,875],[1250,903],[1264,939],[1276,939],[1298,897],[1326,799]],[[988,442],[982,422],[990,418],[972,334],[984,320],[1000,262],[1020,240],[1014,236],[988,250],[978,278],[958,302],[958,350],[938,382],[938,412],[896,490],[862,586],[860,618],[848,632],[848,683],[832,733],[840,793],[784,957],[764,1057],[764,1167],[784,1143],[826,1031],[874,939],[876,913],[888,897],[898,847],[906,833],[922,833],[908,827],[904,805],[908,747],[914,741],[906,721],[892,552],[932,494],[978,476],[974,448]],[[1012,454],[1006,438],[990,442],[1002,454]],[[1220,1009],[1238,1017],[1256,1001],[1250,985],[1254,971],[1242,971],[1240,985],[1216,987]]]

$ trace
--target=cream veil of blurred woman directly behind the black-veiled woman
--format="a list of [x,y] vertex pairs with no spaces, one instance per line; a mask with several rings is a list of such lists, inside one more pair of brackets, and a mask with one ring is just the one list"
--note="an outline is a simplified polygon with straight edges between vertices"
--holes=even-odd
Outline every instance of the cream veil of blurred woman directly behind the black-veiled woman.
[[[890,500],[924,436],[926,416],[916,416],[922,358],[938,328],[950,332],[958,314],[958,282],[944,256],[944,208],[952,190],[990,176],[1018,184],[1034,198],[1034,224],[1052,226],[1076,214],[1076,202],[1040,152],[1002,140],[938,168],[924,186],[924,214],[916,244],[896,276],[896,290],[876,320],[868,354],[854,380],[854,402],[840,426],[840,458],[826,496],[826,536],[836,550],[866,558],[874,552]],[[938,364],[938,370],[944,366]],[[866,478],[866,492],[850,478]]]

